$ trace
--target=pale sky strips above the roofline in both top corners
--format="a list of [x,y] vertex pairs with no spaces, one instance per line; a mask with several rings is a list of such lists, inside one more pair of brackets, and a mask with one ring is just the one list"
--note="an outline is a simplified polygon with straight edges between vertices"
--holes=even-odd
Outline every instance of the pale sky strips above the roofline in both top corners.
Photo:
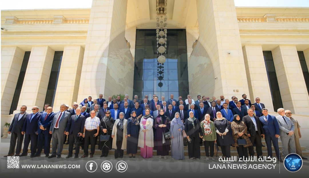
[[[92,0],[1,0],[0,2],[1,10],[67,9],[91,8]],[[234,0],[234,2],[235,6],[309,7],[309,0]]]

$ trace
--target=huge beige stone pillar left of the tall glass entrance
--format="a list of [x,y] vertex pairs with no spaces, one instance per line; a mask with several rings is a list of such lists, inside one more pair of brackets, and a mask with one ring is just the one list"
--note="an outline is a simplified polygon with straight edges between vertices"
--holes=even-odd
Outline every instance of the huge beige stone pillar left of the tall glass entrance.
[[[133,94],[134,61],[125,41],[126,0],[93,0],[78,101]],[[95,97],[97,96],[97,97]]]

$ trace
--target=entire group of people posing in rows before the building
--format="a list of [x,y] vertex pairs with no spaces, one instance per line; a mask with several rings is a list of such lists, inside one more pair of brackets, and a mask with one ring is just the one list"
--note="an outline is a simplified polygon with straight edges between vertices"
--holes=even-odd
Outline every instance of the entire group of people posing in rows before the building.
[[[129,95],[121,101],[108,97],[108,101],[100,94],[98,99],[92,97],[84,99],[80,104],[74,102],[72,108],[61,104],[60,111],[53,113],[49,104],[44,105],[44,111],[39,107],[32,107],[32,114],[26,112],[27,106],[21,106],[20,112],[15,114],[9,128],[11,136],[10,150],[6,156],[27,156],[28,146],[31,142],[31,156],[41,156],[44,148],[45,157],[61,158],[65,137],[68,136],[69,154],[73,157],[74,140],[84,138],[84,155],[88,157],[89,144],[90,157],[93,157],[95,145],[99,139],[100,157],[107,157],[109,150],[115,149],[115,158],[122,158],[124,150],[130,158],[135,158],[138,147],[143,158],[151,158],[153,149],[159,158],[167,159],[169,151],[171,157],[177,160],[184,159],[184,146],[188,146],[189,159],[201,158],[200,148],[204,143],[206,160],[214,160],[214,144],[221,147],[223,156],[230,157],[230,147],[236,147],[239,159],[262,156],[262,142],[265,138],[268,156],[272,157],[272,144],[277,159],[289,153],[297,153],[303,159],[299,138],[300,126],[289,110],[279,108],[278,116],[268,114],[268,110],[260,98],[255,103],[247,99],[238,101],[235,96],[233,102],[224,99],[221,95],[216,100],[213,97],[197,96],[194,102],[188,95],[185,101],[170,95],[165,97],[153,95],[151,101],[145,95],[142,101],[135,95],[133,101]],[[118,107],[119,106],[119,107]],[[104,135],[106,136],[105,138]],[[102,137],[102,140],[100,138]],[[279,152],[278,138],[281,137],[282,155]],[[21,152],[22,141],[24,147]],[[50,154],[50,142],[52,154]],[[16,152],[15,152],[15,145]],[[171,147],[170,147],[171,142]],[[75,146],[74,158],[78,158],[80,147]],[[248,155],[249,153],[249,155]]]

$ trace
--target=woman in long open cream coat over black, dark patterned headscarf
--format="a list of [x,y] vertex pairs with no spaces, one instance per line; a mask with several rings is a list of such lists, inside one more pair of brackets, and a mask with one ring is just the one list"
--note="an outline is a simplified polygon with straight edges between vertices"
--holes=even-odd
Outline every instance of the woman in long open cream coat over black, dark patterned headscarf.
[[123,157],[123,150],[127,149],[127,123],[128,120],[124,118],[125,114],[123,112],[119,113],[119,119],[115,120],[112,138],[113,145],[115,148],[115,159]]

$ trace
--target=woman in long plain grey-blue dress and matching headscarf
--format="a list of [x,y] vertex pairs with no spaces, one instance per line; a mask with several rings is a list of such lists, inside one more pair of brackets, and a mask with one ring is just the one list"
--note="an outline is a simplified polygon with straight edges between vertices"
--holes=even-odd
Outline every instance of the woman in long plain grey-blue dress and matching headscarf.
[[182,131],[184,123],[180,119],[179,112],[176,112],[174,119],[171,121],[171,156],[175,160],[184,160],[184,138]]

